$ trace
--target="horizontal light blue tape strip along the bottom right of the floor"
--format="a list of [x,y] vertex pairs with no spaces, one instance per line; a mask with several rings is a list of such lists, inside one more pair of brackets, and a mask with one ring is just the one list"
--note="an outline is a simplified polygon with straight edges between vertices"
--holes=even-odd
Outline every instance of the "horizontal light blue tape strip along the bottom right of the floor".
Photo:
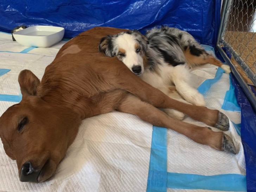
[[246,176],[240,174],[196,175],[167,173],[167,187],[215,191],[247,191]]

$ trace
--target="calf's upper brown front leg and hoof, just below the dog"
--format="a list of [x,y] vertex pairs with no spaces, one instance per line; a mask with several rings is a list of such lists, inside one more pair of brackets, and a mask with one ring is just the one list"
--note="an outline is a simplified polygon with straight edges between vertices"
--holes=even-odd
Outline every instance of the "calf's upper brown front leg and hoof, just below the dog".
[[[115,69],[116,68],[115,66]],[[152,87],[141,78],[134,75],[126,66],[120,65],[120,69],[115,73],[115,78],[113,78],[111,83],[113,83],[116,88],[126,90],[139,97],[142,101],[148,102],[157,108],[175,109],[187,114],[194,120],[204,122],[210,126],[221,130],[229,129],[229,119],[220,111],[183,103],[169,98],[162,91]]]

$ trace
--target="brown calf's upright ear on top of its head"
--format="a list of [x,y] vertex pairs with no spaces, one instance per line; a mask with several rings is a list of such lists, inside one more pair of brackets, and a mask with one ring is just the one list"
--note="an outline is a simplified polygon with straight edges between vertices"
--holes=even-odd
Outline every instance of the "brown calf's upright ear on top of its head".
[[18,82],[23,97],[37,95],[37,87],[40,84],[40,80],[30,70],[20,71]]

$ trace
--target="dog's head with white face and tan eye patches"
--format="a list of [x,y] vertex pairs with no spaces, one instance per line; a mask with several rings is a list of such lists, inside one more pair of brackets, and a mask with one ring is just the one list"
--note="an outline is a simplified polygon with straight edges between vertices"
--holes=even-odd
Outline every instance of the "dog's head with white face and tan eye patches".
[[103,37],[99,51],[108,57],[117,57],[133,73],[141,75],[146,64],[147,44],[147,38],[139,31],[133,30]]

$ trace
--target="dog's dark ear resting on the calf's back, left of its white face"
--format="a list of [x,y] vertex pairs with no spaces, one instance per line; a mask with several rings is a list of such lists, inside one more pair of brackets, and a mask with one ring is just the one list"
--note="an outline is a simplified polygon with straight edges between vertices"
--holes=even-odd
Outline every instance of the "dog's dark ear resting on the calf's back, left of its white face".
[[108,57],[114,57],[114,45],[113,45],[113,36],[108,35],[106,37],[101,38],[101,41],[98,45],[99,52],[104,53]]

